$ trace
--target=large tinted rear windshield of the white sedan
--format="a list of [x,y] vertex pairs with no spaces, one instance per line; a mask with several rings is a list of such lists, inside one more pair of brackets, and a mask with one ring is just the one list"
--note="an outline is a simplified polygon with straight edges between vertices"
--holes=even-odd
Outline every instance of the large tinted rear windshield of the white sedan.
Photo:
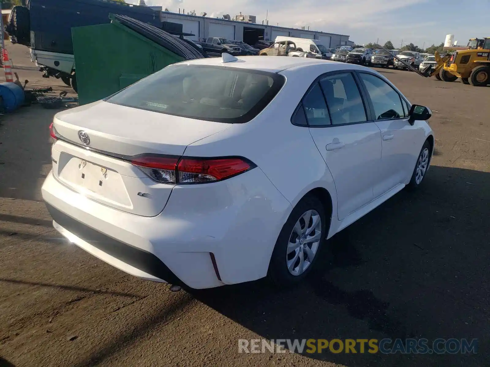
[[283,76],[265,71],[171,65],[105,101],[167,115],[244,123],[258,115],[283,84]]

